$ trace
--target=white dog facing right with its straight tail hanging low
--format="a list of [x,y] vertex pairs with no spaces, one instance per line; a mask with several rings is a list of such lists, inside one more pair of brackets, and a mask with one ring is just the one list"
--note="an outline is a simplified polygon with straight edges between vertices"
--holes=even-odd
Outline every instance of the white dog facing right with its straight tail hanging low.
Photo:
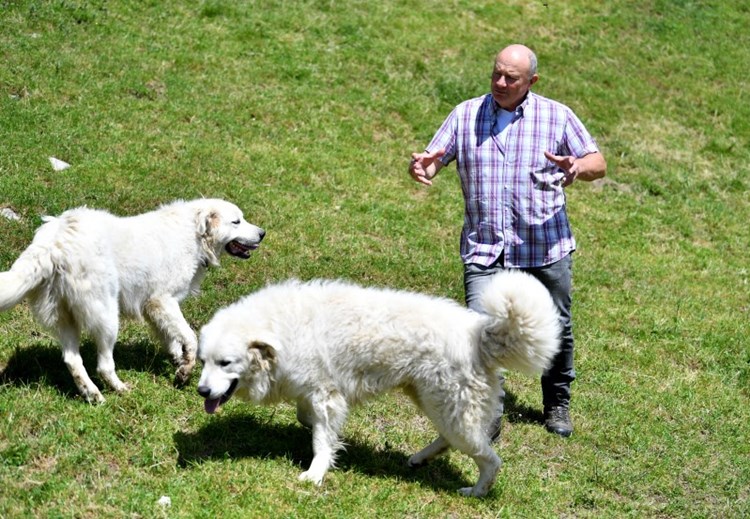
[[44,220],[31,245],[0,273],[0,311],[28,298],[37,320],[57,334],[65,364],[92,403],[104,398],[83,366],[82,331],[96,342],[101,378],[123,391],[112,357],[118,317],[145,316],[178,367],[176,381],[187,382],[198,341],[180,301],[198,292],[222,252],[248,258],[265,234],[237,206],[217,199],[177,201],[127,218],[81,207]]

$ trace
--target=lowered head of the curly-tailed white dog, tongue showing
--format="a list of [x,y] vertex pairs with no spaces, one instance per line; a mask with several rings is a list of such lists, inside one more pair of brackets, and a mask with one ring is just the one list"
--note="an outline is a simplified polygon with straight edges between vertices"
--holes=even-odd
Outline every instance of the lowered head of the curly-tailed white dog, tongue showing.
[[203,365],[198,394],[207,413],[216,412],[235,393],[261,402],[271,391],[276,366],[272,339],[252,337],[245,323],[222,323],[221,316],[201,329],[198,360]]

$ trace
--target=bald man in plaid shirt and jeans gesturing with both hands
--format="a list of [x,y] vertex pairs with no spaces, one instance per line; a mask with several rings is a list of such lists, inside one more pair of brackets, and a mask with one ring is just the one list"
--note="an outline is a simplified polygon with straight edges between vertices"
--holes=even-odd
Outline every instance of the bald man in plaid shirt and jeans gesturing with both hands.
[[[568,437],[573,368],[572,253],[576,248],[564,187],[605,175],[596,141],[565,105],[531,92],[539,76],[528,47],[510,45],[495,57],[490,93],[459,104],[424,153],[413,153],[409,174],[425,185],[456,161],[464,196],[461,257],[466,304],[490,276],[518,268],[539,279],[555,300],[563,325],[561,350],[542,376],[545,427]],[[504,396],[504,395],[503,395]],[[490,433],[499,436],[498,419]]]

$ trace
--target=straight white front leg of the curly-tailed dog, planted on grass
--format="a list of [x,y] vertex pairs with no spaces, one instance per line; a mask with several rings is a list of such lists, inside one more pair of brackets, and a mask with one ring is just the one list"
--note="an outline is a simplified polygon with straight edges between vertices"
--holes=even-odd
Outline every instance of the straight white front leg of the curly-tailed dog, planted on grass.
[[312,419],[313,460],[299,479],[320,485],[336,461],[336,451],[341,448],[339,433],[346,422],[349,406],[338,391],[321,390],[313,395],[308,408]]

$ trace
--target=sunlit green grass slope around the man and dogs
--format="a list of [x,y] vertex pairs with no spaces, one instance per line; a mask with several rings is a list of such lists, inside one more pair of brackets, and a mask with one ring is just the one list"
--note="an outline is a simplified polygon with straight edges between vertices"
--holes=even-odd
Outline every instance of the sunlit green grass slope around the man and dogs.
[[[132,391],[82,402],[26,305],[0,314],[3,517],[750,515],[750,9],[741,2],[0,1],[0,269],[43,214],[224,197],[268,230],[184,313],[197,329],[269,281],[344,277],[462,299],[460,188],[406,166],[494,53],[532,46],[535,90],[575,109],[608,177],[568,191],[579,241],[567,441],[511,375],[485,499],[401,395],[358,408],[321,488],[296,477],[290,405],[202,412],[145,327]],[[54,172],[48,157],[72,167]],[[94,372],[92,344],[84,358]],[[169,496],[171,507],[157,504]]]

